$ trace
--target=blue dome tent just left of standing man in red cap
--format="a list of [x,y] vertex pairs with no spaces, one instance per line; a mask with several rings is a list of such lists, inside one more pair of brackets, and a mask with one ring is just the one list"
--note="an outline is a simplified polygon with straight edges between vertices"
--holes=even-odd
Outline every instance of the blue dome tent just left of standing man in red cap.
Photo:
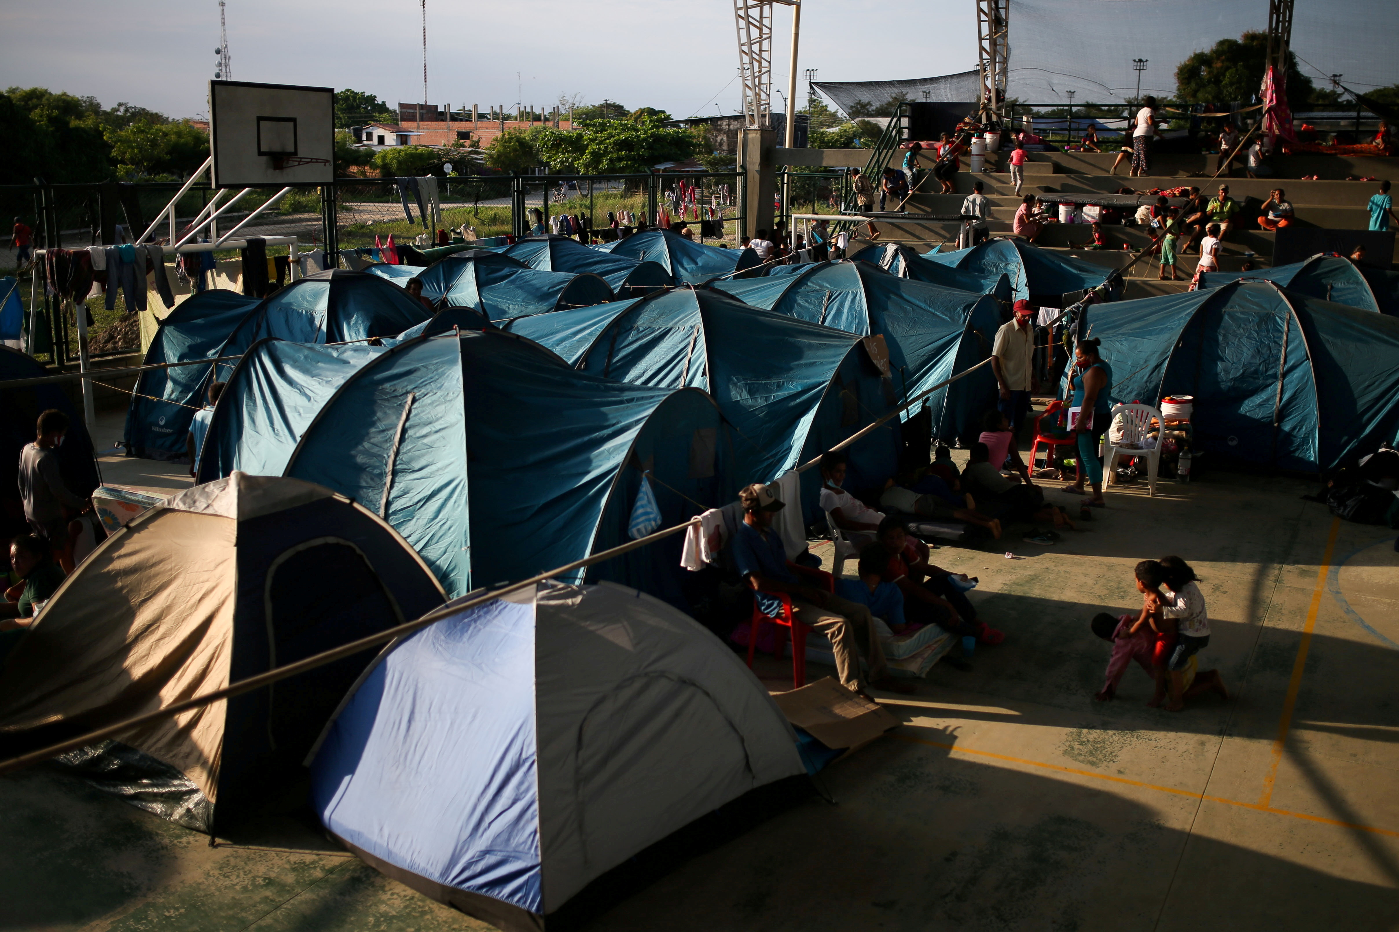
[[[860,337],[883,335],[900,401],[921,395],[990,355],[1000,326],[1000,306],[989,295],[898,278],[879,265],[859,261],[813,263],[799,268],[788,275],[715,282],[713,286],[781,314]],[[982,414],[996,404],[996,377],[988,366],[939,388],[929,395],[928,404],[939,437],[979,435]]]

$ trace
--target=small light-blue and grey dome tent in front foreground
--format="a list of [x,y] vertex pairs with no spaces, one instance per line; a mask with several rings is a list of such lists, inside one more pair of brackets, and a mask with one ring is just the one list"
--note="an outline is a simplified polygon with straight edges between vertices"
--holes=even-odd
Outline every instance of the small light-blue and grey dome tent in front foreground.
[[523,590],[396,643],[311,774],[354,854],[508,932],[576,922],[604,873],[655,868],[651,845],[806,781],[792,727],[733,651],[607,583]]

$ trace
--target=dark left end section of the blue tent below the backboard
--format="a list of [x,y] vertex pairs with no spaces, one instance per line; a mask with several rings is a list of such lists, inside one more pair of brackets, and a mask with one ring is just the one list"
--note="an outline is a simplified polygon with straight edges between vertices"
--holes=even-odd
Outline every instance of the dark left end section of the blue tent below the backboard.
[[[217,358],[228,335],[257,305],[257,298],[234,291],[190,295],[159,320],[144,365]],[[206,384],[208,366],[140,373],[126,412],[129,453],[152,460],[186,458],[186,435],[194,411],[206,401]]]

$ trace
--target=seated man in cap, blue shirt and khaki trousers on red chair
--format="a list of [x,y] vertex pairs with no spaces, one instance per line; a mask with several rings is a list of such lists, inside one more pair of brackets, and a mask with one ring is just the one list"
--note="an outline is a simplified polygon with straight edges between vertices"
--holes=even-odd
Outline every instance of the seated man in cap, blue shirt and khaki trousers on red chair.
[[867,606],[832,595],[825,590],[802,583],[788,566],[782,538],[772,530],[772,516],[785,504],[774,495],[775,488],[750,485],[739,492],[743,504],[743,524],[733,537],[733,563],[739,574],[753,587],[753,598],[765,615],[779,615],[782,601],[774,592],[792,597],[792,616],[825,634],[835,654],[835,669],[841,685],[863,693],[860,682],[859,648],[870,668],[870,686],[895,693],[911,693],[914,687],[888,675],[884,648],[879,643],[873,616]]

